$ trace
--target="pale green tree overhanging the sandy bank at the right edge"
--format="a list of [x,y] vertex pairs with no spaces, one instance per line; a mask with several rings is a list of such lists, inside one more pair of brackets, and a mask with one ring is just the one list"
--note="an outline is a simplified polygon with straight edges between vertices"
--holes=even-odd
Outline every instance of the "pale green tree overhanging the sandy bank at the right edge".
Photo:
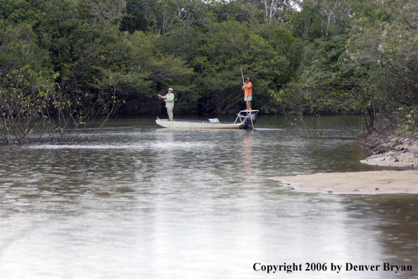
[[[374,4],[353,24],[348,55],[367,70],[365,85],[374,98],[370,105],[381,116],[414,125],[410,112],[418,101],[417,4],[388,1]],[[399,115],[399,109],[403,111]],[[412,127],[411,126],[411,127]]]

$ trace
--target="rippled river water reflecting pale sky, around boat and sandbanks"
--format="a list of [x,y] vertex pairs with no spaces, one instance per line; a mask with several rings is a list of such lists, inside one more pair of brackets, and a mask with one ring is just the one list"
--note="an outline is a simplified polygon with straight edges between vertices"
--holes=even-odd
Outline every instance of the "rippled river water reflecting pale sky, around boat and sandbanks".
[[303,194],[269,179],[384,169],[360,163],[361,118],[324,121],[319,140],[278,116],[255,131],[130,118],[89,144],[0,145],[0,278],[418,278],[417,195]]

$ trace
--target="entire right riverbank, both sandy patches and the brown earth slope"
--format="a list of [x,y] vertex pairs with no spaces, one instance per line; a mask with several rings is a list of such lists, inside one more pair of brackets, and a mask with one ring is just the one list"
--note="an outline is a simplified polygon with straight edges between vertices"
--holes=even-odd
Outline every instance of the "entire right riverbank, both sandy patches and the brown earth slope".
[[[401,171],[317,173],[274,177],[299,192],[326,194],[418,194],[418,133],[374,135],[361,144],[374,152],[360,162],[403,168]],[[405,170],[405,168],[407,168]]]

